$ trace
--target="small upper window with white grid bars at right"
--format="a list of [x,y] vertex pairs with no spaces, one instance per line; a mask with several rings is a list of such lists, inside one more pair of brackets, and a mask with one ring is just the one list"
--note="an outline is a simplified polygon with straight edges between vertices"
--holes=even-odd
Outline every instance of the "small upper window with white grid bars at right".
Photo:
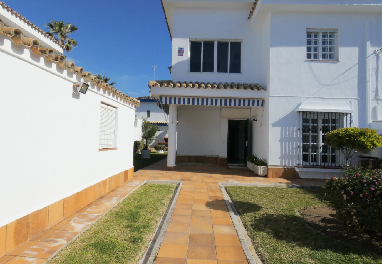
[[319,61],[338,60],[337,29],[307,29],[306,59]]

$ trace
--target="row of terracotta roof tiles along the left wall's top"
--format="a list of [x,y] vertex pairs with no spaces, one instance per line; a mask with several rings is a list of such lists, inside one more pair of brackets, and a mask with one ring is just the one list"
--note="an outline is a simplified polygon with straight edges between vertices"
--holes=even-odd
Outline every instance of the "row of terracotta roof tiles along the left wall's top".
[[13,42],[15,42],[18,45],[22,45],[24,47],[29,48],[34,54],[43,56],[46,60],[53,61],[57,63],[58,66],[65,68],[70,72],[75,72],[78,76],[83,77],[85,80],[93,82],[95,85],[97,85],[97,87],[102,88],[106,91],[110,91],[114,95],[117,95],[118,97],[128,101],[129,103],[135,106],[139,106],[139,100],[125,95],[125,93],[118,91],[113,86],[108,85],[106,82],[102,82],[102,80],[98,80],[95,75],[92,75],[88,71],[84,71],[82,67],[76,66],[71,61],[66,61],[64,56],[60,54],[55,54],[52,49],[41,47],[38,40],[24,37],[24,34],[20,29],[5,26],[1,19],[0,35],[10,37]]

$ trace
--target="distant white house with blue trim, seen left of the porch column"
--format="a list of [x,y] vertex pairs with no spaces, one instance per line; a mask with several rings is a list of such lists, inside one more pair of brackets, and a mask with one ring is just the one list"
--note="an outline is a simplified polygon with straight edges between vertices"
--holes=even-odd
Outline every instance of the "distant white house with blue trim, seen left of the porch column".
[[141,102],[135,111],[137,122],[139,122],[139,119],[144,118],[158,126],[158,132],[155,134],[155,139],[150,146],[154,147],[158,143],[165,143],[168,138],[168,114],[159,108],[157,100],[152,95],[136,97],[135,99]]

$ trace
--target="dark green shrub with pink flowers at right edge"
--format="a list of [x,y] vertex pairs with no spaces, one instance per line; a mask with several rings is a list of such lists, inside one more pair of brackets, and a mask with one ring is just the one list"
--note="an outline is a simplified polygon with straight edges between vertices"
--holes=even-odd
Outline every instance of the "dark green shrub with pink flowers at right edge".
[[322,188],[346,225],[382,232],[382,170],[348,168],[343,177],[326,179]]

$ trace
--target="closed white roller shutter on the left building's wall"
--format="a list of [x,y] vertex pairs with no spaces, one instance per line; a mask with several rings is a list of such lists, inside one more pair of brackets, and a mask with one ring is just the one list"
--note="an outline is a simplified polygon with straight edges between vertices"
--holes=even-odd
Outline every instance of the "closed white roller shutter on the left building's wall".
[[99,149],[115,148],[115,114],[117,108],[101,103]]

